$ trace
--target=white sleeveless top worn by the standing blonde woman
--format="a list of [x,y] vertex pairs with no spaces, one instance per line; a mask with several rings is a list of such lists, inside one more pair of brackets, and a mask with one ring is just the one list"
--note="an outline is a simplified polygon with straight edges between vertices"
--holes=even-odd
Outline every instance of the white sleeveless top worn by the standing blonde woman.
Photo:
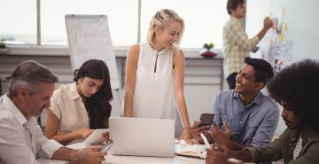
[[[157,55],[159,57],[156,64]],[[166,49],[155,51],[149,43],[140,43],[133,117],[175,119],[174,98],[172,52]]]

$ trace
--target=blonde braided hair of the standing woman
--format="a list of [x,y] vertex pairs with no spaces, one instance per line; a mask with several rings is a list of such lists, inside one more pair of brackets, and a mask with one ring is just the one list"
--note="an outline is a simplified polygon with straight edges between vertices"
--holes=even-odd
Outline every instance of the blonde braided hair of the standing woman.
[[165,28],[172,21],[178,21],[181,23],[181,32],[179,38],[175,42],[175,45],[172,47],[172,51],[177,52],[179,50],[179,44],[181,43],[184,31],[184,20],[174,11],[169,9],[163,9],[158,12],[154,16],[152,16],[152,20],[149,25],[149,30],[147,33],[147,42],[154,43],[155,37],[155,28]]

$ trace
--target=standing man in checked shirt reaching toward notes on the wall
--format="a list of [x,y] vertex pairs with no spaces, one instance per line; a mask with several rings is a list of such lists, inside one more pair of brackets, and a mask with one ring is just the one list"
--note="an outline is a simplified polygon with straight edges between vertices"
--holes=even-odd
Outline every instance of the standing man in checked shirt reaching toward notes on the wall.
[[272,26],[272,21],[266,18],[258,35],[249,39],[241,25],[245,11],[245,0],[228,0],[227,12],[230,20],[225,23],[222,31],[222,55],[224,75],[230,90],[235,89],[237,71],[245,65],[245,57],[249,57],[249,51],[258,50],[255,45]]

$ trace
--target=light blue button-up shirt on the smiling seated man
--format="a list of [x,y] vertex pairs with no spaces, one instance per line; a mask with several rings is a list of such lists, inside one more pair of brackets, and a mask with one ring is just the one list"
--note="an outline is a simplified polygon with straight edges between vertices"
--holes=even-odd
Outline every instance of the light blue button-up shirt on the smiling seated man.
[[214,99],[213,113],[221,129],[222,121],[231,129],[231,141],[254,146],[268,144],[279,121],[278,105],[261,92],[244,105],[235,90],[222,91]]

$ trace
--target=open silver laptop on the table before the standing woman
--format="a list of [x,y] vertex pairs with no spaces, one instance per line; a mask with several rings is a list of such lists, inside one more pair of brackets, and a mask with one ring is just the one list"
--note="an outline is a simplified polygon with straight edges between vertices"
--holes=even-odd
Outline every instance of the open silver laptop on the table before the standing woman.
[[113,155],[175,155],[174,120],[110,117],[109,124]]

